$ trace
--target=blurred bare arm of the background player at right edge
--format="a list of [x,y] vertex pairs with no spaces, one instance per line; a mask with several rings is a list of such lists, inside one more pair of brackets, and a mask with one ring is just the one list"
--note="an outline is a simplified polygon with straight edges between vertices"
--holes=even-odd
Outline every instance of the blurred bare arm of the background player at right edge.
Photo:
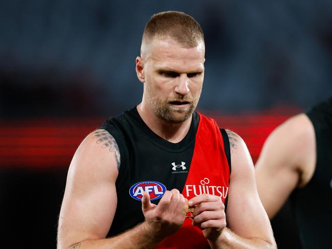
[[291,192],[311,178],[315,145],[315,130],[305,114],[278,126],[264,143],[255,171],[259,197],[270,219]]

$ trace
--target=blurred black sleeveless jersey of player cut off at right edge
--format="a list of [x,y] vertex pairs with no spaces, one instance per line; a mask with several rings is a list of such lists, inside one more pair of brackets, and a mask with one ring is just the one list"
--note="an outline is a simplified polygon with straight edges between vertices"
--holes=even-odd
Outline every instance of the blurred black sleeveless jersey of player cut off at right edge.
[[312,179],[291,196],[303,248],[332,248],[332,98],[306,112],[315,128]]

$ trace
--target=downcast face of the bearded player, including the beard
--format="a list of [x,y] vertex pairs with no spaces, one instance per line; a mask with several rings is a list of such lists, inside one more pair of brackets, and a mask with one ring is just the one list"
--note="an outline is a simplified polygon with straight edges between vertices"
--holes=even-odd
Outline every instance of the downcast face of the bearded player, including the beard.
[[154,114],[181,123],[195,110],[204,79],[204,43],[184,48],[171,38],[154,38],[144,53],[144,94]]

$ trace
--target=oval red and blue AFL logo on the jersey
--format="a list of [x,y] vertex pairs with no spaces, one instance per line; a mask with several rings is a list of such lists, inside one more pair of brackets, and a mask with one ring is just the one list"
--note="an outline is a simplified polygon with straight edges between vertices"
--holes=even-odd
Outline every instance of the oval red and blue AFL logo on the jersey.
[[145,181],[132,185],[129,194],[136,200],[142,200],[144,191],[149,193],[150,200],[156,200],[164,195],[166,187],[162,183]]

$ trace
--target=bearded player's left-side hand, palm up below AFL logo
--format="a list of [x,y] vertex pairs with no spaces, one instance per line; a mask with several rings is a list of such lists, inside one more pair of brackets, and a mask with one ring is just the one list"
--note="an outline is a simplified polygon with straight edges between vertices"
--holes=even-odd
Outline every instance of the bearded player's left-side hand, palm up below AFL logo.
[[151,203],[149,194],[144,192],[142,211],[146,231],[160,241],[175,233],[185,220],[184,207],[185,197],[177,189],[167,190],[158,205]]

